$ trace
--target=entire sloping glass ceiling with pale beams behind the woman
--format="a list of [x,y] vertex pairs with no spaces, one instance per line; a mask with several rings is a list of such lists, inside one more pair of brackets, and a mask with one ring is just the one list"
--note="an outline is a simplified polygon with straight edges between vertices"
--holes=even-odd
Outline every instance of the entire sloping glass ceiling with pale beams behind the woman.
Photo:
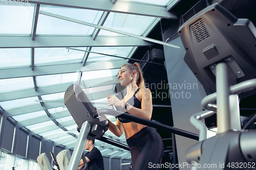
[[[164,7],[170,3],[169,0],[122,1],[133,3],[135,8],[137,4]],[[140,15],[139,12],[135,15],[128,9],[126,13],[110,12],[102,22],[103,18],[101,17],[105,10],[98,9],[98,6],[89,10],[61,7],[62,4],[58,3],[56,6],[49,6],[43,0],[41,2],[39,11],[144,37],[147,36],[145,32],[151,32],[149,29],[154,28],[157,24],[156,19],[159,18],[145,16],[145,14]],[[73,149],[78,137],[78,132],[74,132],[77,125],[64,103],[57,103],[56,100],[63,102],[67,87],[72,83],[80,82],[84,92],[90,95],[94,107],[109,108],[105,93],[114,94],[115,83],[118,83],[114,82],[114,79],[117,79],[119,69],[127,60],[104,54],[130,58],[137,46],[131,46],[129,42],[126,42],[127,36],[109,31],[100,30],[99,34],[94,36],[95,28],[71,21],[42,14],[38,14],[36,20],[34,16],[36,8],[32,3],[27,3],[28,6],[5,5],[11,3],[9,1],[3,1],[3,3],[0,5],[0,38],[4,38],[6,46],[0,46],[0,107],[4,110],[4,114],[11,117],[17,125],[26,122],[24,128],[33,132],[37,137],[41,136],[45,140],[69,147],[65,149]],[[115,9],[109,10],[115,11]],[[34,25],[36,26],[35,39],[32,40]],[[8,37],[14,39],[9,42]],[[109,37],[111,37],[111,41],[121,38],[124,45],[109,45]],[[83,43],[88,45],[88,40],[92,44],[90,46],[83,45]],[[73,42],[81,45],[75,46]],[[66,47],[71,46],[77,50],[70,49],[68,51]],[[86,57],[88,57],[87,60]],[[105,64],[100,65],[102,61],[108,61],[108,69],[104,67]],[[90,63],[96,64],[92,66]],[[81,74],[80,70],[84,65],[86,71]],[[105,69],[102,69],[103,67]],[[10,94],[8,98],[7,94]],[[48,101],[48,103],[40,103],[38,100]],[[55,101],[55,103],[51,103],[51,101]],[[45,122],[41,122],[42,116],[49,116],[49,118],[46,120],[46,117],[44,118]],[[114,116],[108,115],[107,117],[115,123]],[[29,121],[26,120],[30,119],[36,119],[40,123],[34,124],[32,121],[27,123]],[[71,135],[67,131],[72,132]],[[113,134],[107,131],[104,136],[111,137]],[[125,141],[122,143],[126,144]],[[96,140],[95,145],[100,147],[104,143]],[[109,145],[109,147],[113,146]],[[104,149],[109,150],[105,147]],[[113,154],[120,151],[115,151]],[[120,152],[119,156],[123,155],[125,152]],[[127,154],[128,158],[129,156]]]

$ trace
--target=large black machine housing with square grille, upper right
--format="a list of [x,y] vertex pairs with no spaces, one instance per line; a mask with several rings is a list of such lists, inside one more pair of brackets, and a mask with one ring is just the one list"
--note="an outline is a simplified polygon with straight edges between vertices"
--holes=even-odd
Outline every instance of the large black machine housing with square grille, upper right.
[[[214,4],[187,20],[179,35],[186,50],[184,61],[200,83],[213,92],[215,65],[222,61],[227,62],[236,77],[233,84],[256,78],[256,29],[249,19],[238,19]],[[240,98],[255,92],[243,92]]]

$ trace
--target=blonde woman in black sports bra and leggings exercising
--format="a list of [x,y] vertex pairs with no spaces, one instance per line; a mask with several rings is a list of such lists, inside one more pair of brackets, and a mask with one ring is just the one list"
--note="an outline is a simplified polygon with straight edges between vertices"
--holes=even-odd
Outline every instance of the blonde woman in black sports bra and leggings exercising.
[[[121,85],[126,86],[127,94],[122,101],[115,95],[108,95],[109,105],[150,120],[153,111],[152,94],[150,89],[145,88],[139,64],[124,64],[118,78]],[[118,137],[125,133],[132,154],[133,170],[148,169],[149,165],[160,163],[164,146],[161,136],[153,128],[117,118],[116,125],[109,121],[109,130]]]

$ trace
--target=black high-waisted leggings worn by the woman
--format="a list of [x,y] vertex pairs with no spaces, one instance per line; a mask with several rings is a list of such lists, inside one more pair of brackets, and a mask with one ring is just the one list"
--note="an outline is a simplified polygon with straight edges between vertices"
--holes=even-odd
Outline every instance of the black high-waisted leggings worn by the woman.
[[132,155],[133,170],[156,169],[149,167],[160,163],[164,145],[161,136],[153,128],[145,127],[126,141]]

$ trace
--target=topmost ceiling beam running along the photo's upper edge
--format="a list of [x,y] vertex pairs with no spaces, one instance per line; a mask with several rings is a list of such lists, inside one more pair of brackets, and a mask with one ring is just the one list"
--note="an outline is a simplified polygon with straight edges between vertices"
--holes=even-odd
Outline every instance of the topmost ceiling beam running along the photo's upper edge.
[[144,15],[152,17],[160,17],[166,19],[177,19],[175,14],[167,11],[165,7],[154,5],[138,4],[132,2],[117,1],[115,4],[112,1],[105,0],[84,0],[84,1],[69,1],[69,0],[32,0],[29,3],[44,4],[59,7],[70,7],[89,9],[106,12],[117,12],[133,15]]

